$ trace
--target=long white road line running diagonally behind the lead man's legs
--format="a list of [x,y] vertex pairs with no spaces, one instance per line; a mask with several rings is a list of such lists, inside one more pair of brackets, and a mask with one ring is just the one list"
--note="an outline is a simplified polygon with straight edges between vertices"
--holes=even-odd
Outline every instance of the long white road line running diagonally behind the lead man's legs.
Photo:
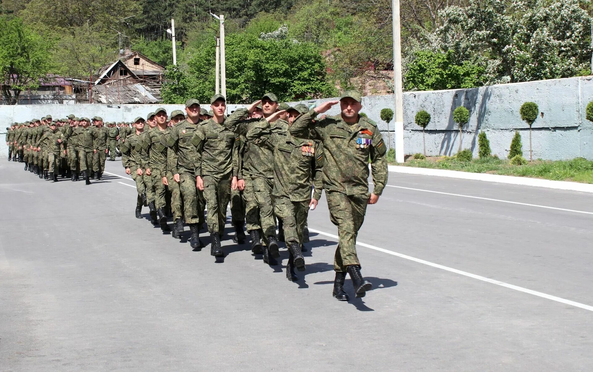
[[[309,231],[312,231],[314,233],[318,233],[318,234],[321,234],[321,235],[329,236],[330,238],[339,239],[337,235],[329,234],[329,233],[326,233],[326,232],[323,232],[323,231],[319,231],[319,230],[314,230],[314,229],[311,229],[311,227],[309,228]],[[510,288],[510,289],[513,289],[513,290],[516,290],[516,291],[519,291],[519,292],[533,294],[534,296],[542,297],[543,299],[548,299],[548,300],[556,301],[556,302],[559,302],[559,303],[563,303],[563,304],[567,304],[567,305],[571,305],[571,306],[575,306],[575,307],[580,307],[581,309],[593,311],[593,306],[586,305],[584,303],[579,303],[579,302],[574,302],[574,301],[567,300],[567,299],[562,299],[561,297],[551,296],[551,294],[541,293],[541,292],[538,292],[538,291],[530,290],[528,288],[523,288],[523,287],[515,286],[513,284],[508,284],[508,283],[505,283],[503,281],[499,281],[499,280],[495,280],[495,279],[490,279],[490,278],[482,277],[482,276],[476,275],[476,274],[471,274],[471,272],[457,270],[457,269],[454,269],[454,268],[451,268],[451,267],[447,267],[447,266],[444,266],[444,265],[435,264],[434,262],[425,261],[425,260],[420,259],[420,258],[416,258],[416,257],[404,255],[404,254],[401,254],[401,253],[398,253],[398,252],[394,252],[394,251],[388,251],[387,249],[379,248],[379,247],[376,247],[374,245],[360,243],[360,242],[356,242],[356,245],[364,246],[365,248],[371,248],[371,249],[374,249],[375,251],[379,251],[379,252],[383,252],[383,253],[386,253],[386,254],[398,256],[400,258],[409,259],[410,261],[418,262],[419,264],[428,265],[428,266],[432,266],[432,267],[435,267],[435,268],[438,268],[438,269],[441,269],[441,270],[454,272],[455,274],[464,275],[464,276],[469,277],[469,278],[474,278],[474,279],[477,279],[477,280],[485,281],[486,283],[496,284],[497,286],[500,286],[500,287]]]

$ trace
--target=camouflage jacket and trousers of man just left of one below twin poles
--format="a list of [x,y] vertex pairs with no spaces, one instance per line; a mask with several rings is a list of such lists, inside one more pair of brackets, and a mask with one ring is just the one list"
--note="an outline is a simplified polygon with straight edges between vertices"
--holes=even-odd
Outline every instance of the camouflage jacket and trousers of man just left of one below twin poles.
[[171,156],[167,156],[167,168],[171,175],[179,174],[185,222],[202,225],[205,204],[202,193],[196,189],[196,176],[199,175],[196,174],[197,151],[196,146],[192,144],[198,125],[187,120],[180,121],[163,136],[161,143],[169,148],[168,153],[173,150]]

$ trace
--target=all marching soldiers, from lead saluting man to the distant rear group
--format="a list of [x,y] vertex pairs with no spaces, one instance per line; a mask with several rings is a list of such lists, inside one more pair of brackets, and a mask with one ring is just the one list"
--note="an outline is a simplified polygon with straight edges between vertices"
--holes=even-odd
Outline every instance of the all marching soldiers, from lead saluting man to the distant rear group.
[[[337,104],[339,115],[323,115]],[[365,296],[372,286],[360,271],[356,236],[366,206],[377,203],[387,182],[387,149],[377,125],[358,114],[361,95],[346,91],[339,101],[312,110],[279,103],[273,93],[229,116],[222,95],[214,95],[209,106],[208,111],[190,99],[184,112],[168,116],[165,108],[157,108],[146,118],[136,117],[131,127],[104,127],[101,117],[89,127],[91,120],[74,116],[57,123],[48,116],[15,124],[7,133],[9,160],[25,162],[25,170],[40,177],[45,172],[57,181],[63,169],[63,177],[82,177],[89,184],[90,178],[101,179],[107,155],[113,161],[119,149],[125,172],[136,183],[137,218],[144,218],[142,207],[148,207],[152,224],[171,230],[174,239],[189,226],[195,251],[205,246],[200,230],[206,227],[211,255],[220,258],[230,204],[232,241],[243,244],[246,227],[251,252],[263,255],[267,265],[278,265],[278,242],[284,241],[291,281],[298,280],[295,270],[305,270],[307,216],[325,190],[339,235],[333,296],[349,300],[346,274],[355,296]]]

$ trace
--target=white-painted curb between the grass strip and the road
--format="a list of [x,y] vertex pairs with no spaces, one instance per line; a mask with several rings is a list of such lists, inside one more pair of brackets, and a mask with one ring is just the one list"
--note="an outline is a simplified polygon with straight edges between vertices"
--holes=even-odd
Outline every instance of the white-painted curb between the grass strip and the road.
[[475,181],[498,182],[500,184],[523,185],[534,187],[555,188],[557,190],[581,191],[593,193],[593,184],[579,182],[551,181],[550,179],[503,176],[498,174],[470,173],[448,171],[447,169],[416,168],[413,166],[389,165],[388,170],[396,173],[417,174],[425,176],[473,179]]

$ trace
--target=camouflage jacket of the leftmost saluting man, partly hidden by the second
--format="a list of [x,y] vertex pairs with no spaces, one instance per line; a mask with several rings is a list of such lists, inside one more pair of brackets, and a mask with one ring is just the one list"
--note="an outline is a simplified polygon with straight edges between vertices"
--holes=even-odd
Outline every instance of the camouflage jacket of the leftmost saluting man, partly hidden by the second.
[[[232,113],[227,120],[225,120],[225,127],[237,134],[243,136],[247,133],[250,123],[256,120],[246,119],[247,108],[239,108]],[[273,126],[270,130],[276,130]],[[247,141],[245,152],[243,155],[243,177],[246,175],[274,178],[274,159],[272,151],[265,147],[256,146],[253,143]]]

